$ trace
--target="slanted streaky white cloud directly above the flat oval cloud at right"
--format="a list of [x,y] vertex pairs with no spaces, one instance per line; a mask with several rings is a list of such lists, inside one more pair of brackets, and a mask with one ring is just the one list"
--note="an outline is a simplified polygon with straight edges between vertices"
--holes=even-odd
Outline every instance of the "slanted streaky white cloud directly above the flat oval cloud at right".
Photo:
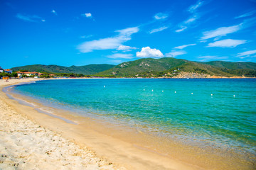
[[209,38],[215,38],[215,37],[223,37],[229,33],[235,33],[238,30],[241,29],[242,24],[239,24],[237,26],[230,26],[230,27],[220,27],[216,30],[209,30],[206,32],[203,32],[203,37],[201,37],[201,40],[207,40]]

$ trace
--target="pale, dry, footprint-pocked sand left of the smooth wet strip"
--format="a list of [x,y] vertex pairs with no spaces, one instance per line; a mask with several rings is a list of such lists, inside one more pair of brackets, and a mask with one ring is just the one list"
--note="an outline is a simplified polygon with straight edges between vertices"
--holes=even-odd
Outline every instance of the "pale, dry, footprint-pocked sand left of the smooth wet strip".
[[[0,86],[31,80],[0,81]],[[21,115],[0,96],[0,169],[117,169]]]

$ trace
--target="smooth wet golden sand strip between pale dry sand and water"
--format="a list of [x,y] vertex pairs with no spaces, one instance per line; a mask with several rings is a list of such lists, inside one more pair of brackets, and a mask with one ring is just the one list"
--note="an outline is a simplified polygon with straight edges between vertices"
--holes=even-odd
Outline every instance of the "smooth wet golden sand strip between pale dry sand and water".
[[[29,79],[26,81],[38,81],[40,79]],[[11,81],[11,80],[9,80]],[[89,148],[97,157],[111,162],[120,169],[198,169],[184,162],[178,162],[164,155],[149,152],[146,149],[134,147],[134,145],[115,139],[114,137],[100,134],[94,130],[84,129],[83,126],[65,123],[59,118],[53,118],[50,115],[39,113],[30,106],[24,106],[10,99],[2,91],[3,87],[20,83],[9,82],[1,84],[1,101],[6,102],[11,108],[20,114],[25,115],[28,120],[33,120],[36,124],[45,127],[52,132],[60,134],[61,137],[72,141],[80,148]],[[22,152],[22,151],[21,151]],[[200,168],[199,168],[200,169]]]

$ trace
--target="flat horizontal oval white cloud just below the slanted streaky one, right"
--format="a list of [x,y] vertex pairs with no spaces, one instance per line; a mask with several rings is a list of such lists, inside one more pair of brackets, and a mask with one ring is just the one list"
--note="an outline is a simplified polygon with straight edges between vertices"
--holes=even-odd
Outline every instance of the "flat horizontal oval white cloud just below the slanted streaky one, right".
[[236,47],[241,44],[245,44],[246,40],[219,40],[212,43],[209,43],[207,47]]

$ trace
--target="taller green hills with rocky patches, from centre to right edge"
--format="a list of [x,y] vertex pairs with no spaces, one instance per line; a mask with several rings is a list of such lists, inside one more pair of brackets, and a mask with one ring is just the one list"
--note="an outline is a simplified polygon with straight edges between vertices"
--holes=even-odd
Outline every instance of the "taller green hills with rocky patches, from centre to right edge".
[[[175,72],[175,73],[174,73]],[[95,75],[114,77],[162,77],[166,74],[194,72],[222,77],[255,77],[256,63],[253,62],[191,62],[175,58],[144,58],[132,62],[123,62]]]

